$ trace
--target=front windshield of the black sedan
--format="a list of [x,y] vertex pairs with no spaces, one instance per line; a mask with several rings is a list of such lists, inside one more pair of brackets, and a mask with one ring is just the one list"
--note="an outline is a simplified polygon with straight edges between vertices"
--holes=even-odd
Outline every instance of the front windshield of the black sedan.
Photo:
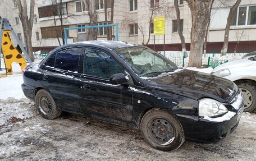
[[115,51],[135,73],[142,77],[157,76],[178,68],[175,63],[147,47],[126,47]]

